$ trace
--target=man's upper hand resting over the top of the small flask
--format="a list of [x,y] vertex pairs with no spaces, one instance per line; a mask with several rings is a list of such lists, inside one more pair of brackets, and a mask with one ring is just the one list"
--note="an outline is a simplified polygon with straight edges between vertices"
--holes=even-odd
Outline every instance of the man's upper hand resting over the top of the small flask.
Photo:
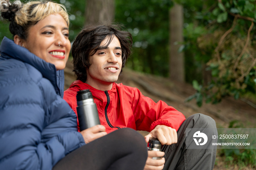
[[148,135],[144,136],[146,142],[149,138],[157,138],[162,145],[170,145],[177,143],[177,132],[175,129],[165,126],[157,125]]

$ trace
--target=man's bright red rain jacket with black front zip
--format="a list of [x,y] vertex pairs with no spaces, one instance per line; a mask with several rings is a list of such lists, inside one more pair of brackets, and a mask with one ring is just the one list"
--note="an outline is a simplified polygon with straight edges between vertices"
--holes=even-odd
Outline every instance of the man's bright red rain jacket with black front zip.
[[113,83],[112,89],[104,92],[80,80],[74,81],[64,92],[64,99],[76,115],[76,93],[84,89],[90,89],[93,94],[99,120],[108,133],[124,127],[150,132],[159,124],[177,131],[185,120],[181,112],[161,100],[155,103],[137,88]]

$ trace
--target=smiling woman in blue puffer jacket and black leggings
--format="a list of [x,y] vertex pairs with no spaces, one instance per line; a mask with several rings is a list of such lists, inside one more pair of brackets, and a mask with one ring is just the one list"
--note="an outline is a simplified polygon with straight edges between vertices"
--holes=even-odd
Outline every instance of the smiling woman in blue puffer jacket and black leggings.
[[0,46],[0,169],[143,169],[146,143],[136,131],[77,131],[62,98],[71,49],[65,7],[0,0],[0,12],[14,35]]

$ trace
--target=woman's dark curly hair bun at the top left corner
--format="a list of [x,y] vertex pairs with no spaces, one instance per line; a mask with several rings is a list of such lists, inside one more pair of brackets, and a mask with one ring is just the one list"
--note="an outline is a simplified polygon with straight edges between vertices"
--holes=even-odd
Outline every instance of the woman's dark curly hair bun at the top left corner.
[[10,0],[0,0],[0,12],[1,17],[8,19],[9,21],[14,19],[15,13],[22,8],[22,3],[20,0],[14,1],[12,4]]

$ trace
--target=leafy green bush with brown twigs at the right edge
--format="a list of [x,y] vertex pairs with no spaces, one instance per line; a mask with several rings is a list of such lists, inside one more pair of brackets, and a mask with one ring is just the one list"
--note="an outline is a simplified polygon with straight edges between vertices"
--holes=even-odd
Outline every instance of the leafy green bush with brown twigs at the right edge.
[[[202,12],[196,15],[197,22],[192,20],[185,28],[184,51],[192,54],[195,60],[192,63],[206,65],[206,69],[199,67],[199,70],[210,71],[211,81],[194,77],[204,86],[200,90],[195,88],[197,92],[187,101],[195,98],[201,106],[203,100],[218,103],[225,96],[238,99],[247,93],[255,94],[255,1],[222,0],[204,4]],[[201,31],[196,32],[195,28]]]

